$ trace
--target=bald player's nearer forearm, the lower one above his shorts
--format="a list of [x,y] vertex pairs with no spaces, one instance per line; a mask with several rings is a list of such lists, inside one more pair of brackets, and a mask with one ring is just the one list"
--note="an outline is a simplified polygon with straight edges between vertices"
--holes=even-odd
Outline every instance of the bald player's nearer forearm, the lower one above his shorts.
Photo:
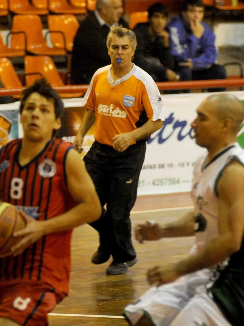
[[180,275],[185,275],[210,268],[228,258],[238,248],[233,246],[229,237],[217,236],[197,255],[193,255],[177,263],[176,268]]

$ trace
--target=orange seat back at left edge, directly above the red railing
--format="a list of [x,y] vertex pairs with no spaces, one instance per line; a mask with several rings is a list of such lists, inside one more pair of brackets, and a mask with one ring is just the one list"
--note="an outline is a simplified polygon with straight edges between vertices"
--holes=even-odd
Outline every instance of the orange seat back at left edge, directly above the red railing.
[[11,61],[7,58],[0,58],[0,76],[6,88],[23,87]]

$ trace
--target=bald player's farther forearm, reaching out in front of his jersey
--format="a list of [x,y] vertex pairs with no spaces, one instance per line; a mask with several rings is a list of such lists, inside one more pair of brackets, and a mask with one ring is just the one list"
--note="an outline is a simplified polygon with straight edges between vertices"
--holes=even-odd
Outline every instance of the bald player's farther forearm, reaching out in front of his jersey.
[[175,222],[161,226],[161,238],[191,237],[195,235],[194,212],[189,212]]

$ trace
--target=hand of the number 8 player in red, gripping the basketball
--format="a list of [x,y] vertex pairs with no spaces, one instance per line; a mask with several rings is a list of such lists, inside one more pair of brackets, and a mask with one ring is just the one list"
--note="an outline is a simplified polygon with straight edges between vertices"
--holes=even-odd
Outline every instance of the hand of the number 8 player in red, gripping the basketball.
[[22,211],[19,211],[19,214],[26,220],[26,227],[14,233],[14,237],[23,238],[11,248],[13,256],[20,255],[25,248],[29,247],[45,234],[42,222],[35,221]]

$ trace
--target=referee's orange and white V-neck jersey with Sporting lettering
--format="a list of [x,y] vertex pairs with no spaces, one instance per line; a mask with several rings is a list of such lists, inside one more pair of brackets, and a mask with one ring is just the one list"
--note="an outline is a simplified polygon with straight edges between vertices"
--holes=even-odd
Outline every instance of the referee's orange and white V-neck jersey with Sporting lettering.
[[84,98],[86,108],[95,111],[94,138],[102,144],[112,146],[115,135],[135,130],[143,113],[147,116],[145,122],[164,120],[156,83],[134,64],[126,76],[115,82],[111,65],[98,69]]

